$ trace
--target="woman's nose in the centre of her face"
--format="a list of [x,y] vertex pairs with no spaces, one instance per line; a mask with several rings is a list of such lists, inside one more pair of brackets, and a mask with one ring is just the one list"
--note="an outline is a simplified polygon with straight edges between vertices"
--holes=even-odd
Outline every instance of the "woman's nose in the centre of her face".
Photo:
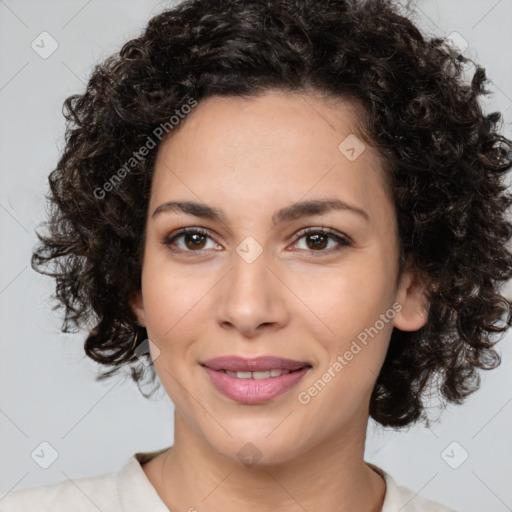
[[223,329],[253,338],[286,325],[290,291],[269,260],[265,251],[254,261],[233,254],[232,267],[216,287],[215,314]]

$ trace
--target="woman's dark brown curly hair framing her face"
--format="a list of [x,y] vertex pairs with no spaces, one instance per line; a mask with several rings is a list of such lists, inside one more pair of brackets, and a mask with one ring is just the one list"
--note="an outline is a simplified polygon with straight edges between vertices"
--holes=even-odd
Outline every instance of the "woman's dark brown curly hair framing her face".
[[[423,328],[393,330],[370,417],[429,425],[428,384],[436,380],[442,405],[462,403],[480,386],[477,370],[501,363],[493,346],[512,325],[501,293],[512,277],[512,142],[499,133],[502,115],[480,104],[490,93],[485,70],[475,65],[464,79],[473,61],[422,34],[408,9],[390,0],[187,0],[153,17],[65,100],[66,145],[32,267],[56,280],[62,331],[88,326],[86,355],[109,367],[97,380],[124,366],[142,379],[134,348],[147,332],[130,298],[141,289],[158,127],[172,135],[169,119],[190,98],[272,89],[361,108],[365,141],[386,163],[399,270],[412,261],[430,301]],[[148,137],[157,147],[144,152]]]

